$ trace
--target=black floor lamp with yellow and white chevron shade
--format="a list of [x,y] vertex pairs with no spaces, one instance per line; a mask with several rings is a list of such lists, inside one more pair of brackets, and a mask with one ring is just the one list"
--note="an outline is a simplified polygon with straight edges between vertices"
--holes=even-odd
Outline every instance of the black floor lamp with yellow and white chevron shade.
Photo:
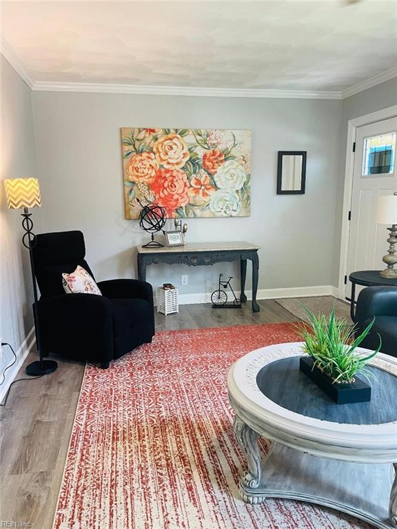
[[37,239],[32,231],[33,222],[30,218],[32,214],[29,213],[28,210],[29,207],[41,207],[39,180],[37,180],[37,178],[12,178],[10,180],[5,180],[4,183],[6,185],[6,196],[9,209],[23,208],[22,227],[25,230],[25,234],[23,234],[22,244],[29,250],[30,269],[32,271],[34,329],[36,331],[36,346],[37,351],[39,351],[40,360],[29,364],[26,367],[26,374],[32,377],[48,375],[48,373],[52,373],[52,371],[57,369],[58,364],[54,360],[43,360],[43,352],[41,351],[37,284],[36,276],[34,275],[34,261],[32,255],[32,249],[34,248]]

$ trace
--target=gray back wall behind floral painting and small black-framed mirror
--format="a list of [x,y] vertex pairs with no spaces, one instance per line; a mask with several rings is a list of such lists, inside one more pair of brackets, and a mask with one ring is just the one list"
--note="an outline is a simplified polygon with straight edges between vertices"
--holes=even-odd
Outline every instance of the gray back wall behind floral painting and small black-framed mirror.
[[[43,229],[81,229],[96,279],[134,277],[134,247],[147,240],[123,218],[120,127],[252,130],[252,215],[188,220],[187,242],[261,246],[259,288],[332,284],[340,101],[33,92]],[[276,195],[278,150],[307,150],[307,191]],[[214,289],[218,271],[152,267],[155,286]],[[189,285],[180,286],[181,273]]]

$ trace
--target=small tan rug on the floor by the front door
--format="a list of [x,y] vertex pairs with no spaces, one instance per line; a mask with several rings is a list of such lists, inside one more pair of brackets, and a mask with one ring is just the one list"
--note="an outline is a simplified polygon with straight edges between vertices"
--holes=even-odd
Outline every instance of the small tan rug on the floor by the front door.
[[349,323],[352,323],[352,319],[350,318],[350,305],[336,300],[332,295],[316,296],[314,298],[284,298],[282,300],[276,300],[276,302],[301,320],[307,320],[305,309],[303,309],[301,303],[315,315],[320,313],[329,314],[335,303],[335,312],[338,318],[345,318]]

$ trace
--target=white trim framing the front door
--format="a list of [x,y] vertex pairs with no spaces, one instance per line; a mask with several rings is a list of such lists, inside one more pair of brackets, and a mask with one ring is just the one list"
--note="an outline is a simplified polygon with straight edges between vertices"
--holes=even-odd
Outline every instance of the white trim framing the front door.
[[353,143],[356,141],[356,129],[363,125],[370,125],[376,121],[397,117],[397,105],[349,119],[347,122],[347,143],[346,143],[346,163],[345,163],[345,185],[343,190],[343,213],[342,232],[340,236],[340,260],[339,260],[339,280],[338,298],[345,299],[345,275],[347,273],[347,254],[349,250],[349,211],[352,204],[354,152]]

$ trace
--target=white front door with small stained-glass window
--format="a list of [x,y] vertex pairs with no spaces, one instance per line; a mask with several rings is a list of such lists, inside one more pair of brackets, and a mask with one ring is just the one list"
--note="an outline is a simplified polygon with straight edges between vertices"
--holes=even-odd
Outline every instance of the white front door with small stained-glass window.
[[[354,271],[386,268],[389,232],[375,218],[378,197],[397,191],[396,132],[397,118],[357,128],[347,278]],[[350,296],[349,281],[345,295]]]

